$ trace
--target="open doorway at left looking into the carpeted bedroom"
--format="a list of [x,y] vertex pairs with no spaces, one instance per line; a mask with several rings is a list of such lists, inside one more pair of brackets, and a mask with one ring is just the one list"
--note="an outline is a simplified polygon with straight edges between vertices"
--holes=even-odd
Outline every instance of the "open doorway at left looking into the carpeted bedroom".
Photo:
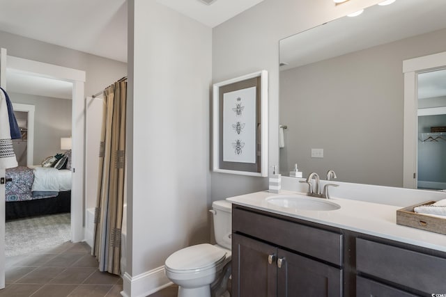
[[42,162],[66,154],[61,137],[71,136],[72,83],[6,73],[22,134],[13,140],[18,167],[6,169],[6,177],[12,179],[6,184],[5,255],[10,260],[71,239],[72,172],[66,165],[42,168]]

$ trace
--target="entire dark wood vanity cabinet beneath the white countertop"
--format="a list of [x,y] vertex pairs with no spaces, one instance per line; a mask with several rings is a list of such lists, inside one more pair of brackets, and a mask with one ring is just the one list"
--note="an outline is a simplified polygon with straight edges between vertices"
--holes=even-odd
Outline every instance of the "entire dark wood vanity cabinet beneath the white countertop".
[[232,216],[233,297],[446,296],[446,252],[236,204]]

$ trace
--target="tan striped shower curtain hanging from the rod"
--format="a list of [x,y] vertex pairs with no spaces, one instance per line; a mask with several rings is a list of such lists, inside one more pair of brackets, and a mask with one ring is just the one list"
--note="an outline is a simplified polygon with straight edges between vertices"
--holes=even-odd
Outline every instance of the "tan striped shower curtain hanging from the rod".
[[119,274],[125,178],[125,102],[127,79],[104,90],[98,197],[92,255],[99,270]]

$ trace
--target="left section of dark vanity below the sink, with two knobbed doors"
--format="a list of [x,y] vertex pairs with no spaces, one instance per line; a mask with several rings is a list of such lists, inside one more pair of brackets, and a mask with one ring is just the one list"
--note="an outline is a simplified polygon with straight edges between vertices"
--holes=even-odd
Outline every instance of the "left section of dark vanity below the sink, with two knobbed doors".
[[238,207],[232,225],[233,297],[342,296],[341,234]]

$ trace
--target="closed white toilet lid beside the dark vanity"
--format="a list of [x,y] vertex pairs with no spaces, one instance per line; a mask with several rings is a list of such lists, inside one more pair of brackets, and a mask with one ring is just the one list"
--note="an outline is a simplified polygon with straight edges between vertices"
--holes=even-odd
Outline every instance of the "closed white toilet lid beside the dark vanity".
[[226,251],[209,243],[178,250],[166,260],[166,268],[174,271],[191,271],[210,268],[222,262]]

